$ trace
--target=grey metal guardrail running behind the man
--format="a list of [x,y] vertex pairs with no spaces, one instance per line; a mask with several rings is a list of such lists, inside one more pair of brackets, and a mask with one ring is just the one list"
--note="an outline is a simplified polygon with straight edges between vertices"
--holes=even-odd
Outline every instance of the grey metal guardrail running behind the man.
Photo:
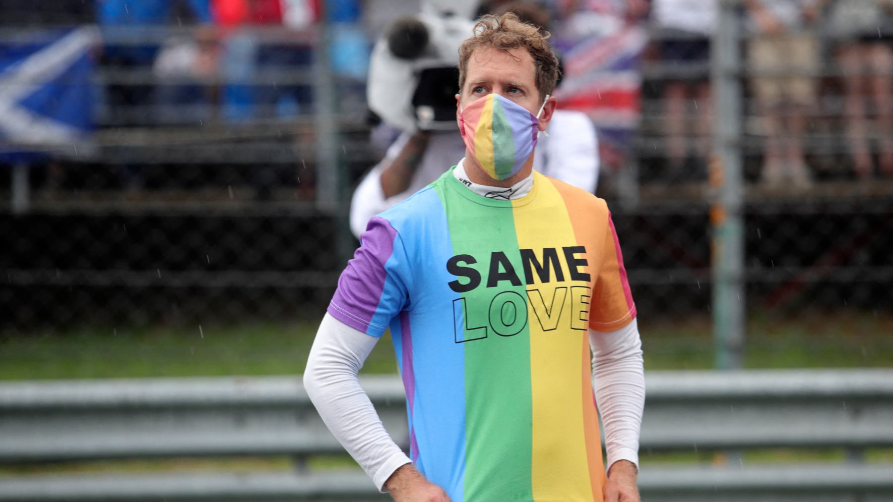
[[[361,378],[388,432],[408,444],[403,385]],[[646,500],[881,500],[893,465],[893,372],[648,372],[640,486]],[[745,463],[759,449],[845,449],[845,461]],[[732,450],[735,453],[728,454]],[[293,471],[0,476],[0,500],[380,499],[358,470],[309,468],[343,450],[299,378],[190,378],[0,384],[0,464],[286,455]],[[651,463],[656,452],[697,463]],[[714,456],[711,452],[717,452]],[[764,454],[765,455],[765,454]],[[803,455],[801,456],[803,457]],[[722,459],[717,462],[717,459]]]

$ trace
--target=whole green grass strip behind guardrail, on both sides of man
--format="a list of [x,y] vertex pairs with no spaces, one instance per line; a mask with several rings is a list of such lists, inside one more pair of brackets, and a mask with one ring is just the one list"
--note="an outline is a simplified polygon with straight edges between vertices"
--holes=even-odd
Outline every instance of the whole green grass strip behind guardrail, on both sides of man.
[[[319,320],[0,334],[0,380],[300,374]],[[714,367],[708,317],[640,320],[647,369]],[[745,366],[893,366],[893,314],[752,316]],[[395,373],[388,334],[363,373]]]

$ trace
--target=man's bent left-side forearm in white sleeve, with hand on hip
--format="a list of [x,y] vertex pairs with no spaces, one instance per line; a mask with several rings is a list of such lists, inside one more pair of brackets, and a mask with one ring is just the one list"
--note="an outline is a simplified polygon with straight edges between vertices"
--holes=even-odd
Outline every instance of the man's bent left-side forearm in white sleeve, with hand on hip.
[[398,501],[446,501],[388,435],[357,376],[378,338],[326,314],[307,358],[304,386],[322,421],[381,491]]

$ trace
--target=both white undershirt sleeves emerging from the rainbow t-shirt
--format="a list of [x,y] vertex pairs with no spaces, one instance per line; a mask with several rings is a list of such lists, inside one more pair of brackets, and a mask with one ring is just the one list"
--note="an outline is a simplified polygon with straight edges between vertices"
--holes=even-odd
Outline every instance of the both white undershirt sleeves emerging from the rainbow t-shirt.
[[[412,460],[388,435],[357,376],[378,341],[326,314],[307,359],[304,385],[323,422],[384,491],[390,475]],[[645,375],[636,320],[612,332],[590,330],[589,346],[607,466],[618,460],[638,466]]]

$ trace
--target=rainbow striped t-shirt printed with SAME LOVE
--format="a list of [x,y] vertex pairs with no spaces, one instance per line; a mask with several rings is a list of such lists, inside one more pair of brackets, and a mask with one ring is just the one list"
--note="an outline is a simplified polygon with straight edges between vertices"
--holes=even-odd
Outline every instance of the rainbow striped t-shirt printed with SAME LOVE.
[[447,171],[372,218],[329,306],[390,327],[410,457],[454,501],[602,500],[588,328],[636,309],[605,202],[534,176],[505,201]]

